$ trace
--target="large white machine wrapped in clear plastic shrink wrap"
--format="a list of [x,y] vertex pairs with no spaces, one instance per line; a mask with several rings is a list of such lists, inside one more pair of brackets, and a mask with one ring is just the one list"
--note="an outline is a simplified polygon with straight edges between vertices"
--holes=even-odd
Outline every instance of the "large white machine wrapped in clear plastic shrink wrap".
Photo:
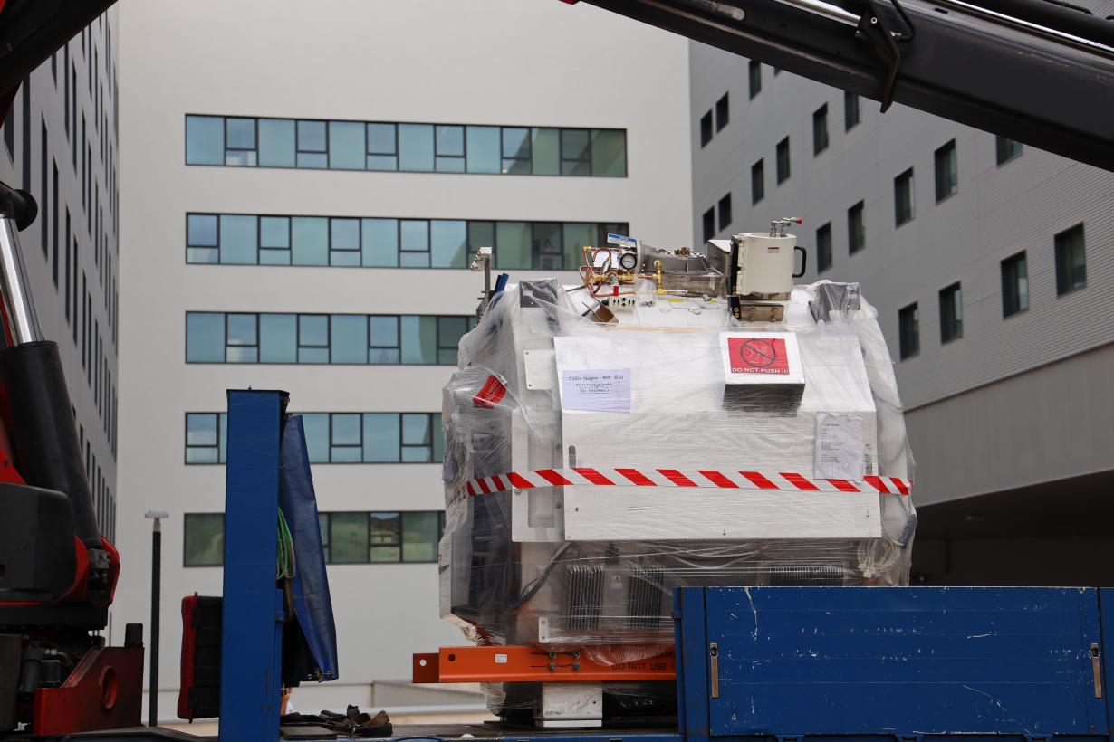
[[722,265],[668,267],[512,285],[461,340],[440,601],[472,641],[618,664],[672,646],[677,586],[908,584],[912,458],[858,285],[740,321]]

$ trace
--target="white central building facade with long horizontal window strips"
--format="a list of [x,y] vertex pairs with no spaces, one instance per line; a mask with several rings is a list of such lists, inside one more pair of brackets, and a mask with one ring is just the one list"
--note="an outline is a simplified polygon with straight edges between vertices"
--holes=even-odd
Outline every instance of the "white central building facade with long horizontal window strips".
[[411,653],[463,639],[436,561],[441,387],[482,288],[467,266],[491,246],[512,280],[574,281],[607,231],[688,239],[685,41],[519,0],[119,12],[117,621],[146,615],[143,513],[165,508],[170,716],[178,602],[222,588],[225,389],[282,388],[305,414],[341,645],[341,680],[295,704],[422,703],[394,683]]

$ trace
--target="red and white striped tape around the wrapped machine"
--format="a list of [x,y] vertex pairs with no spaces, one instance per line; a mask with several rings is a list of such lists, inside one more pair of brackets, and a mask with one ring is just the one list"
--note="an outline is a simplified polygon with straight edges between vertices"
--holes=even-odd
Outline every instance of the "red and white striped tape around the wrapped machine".
[[783,489],[789,492],[871,492],[908,495],[911,483],[892,476],[854,479],[813,479],[793,472],[726,472],[667,468],[560,468],[508,472],[471,479],[468,494],[489,495],[508,489],[560,486],[711,487],[720,489]]

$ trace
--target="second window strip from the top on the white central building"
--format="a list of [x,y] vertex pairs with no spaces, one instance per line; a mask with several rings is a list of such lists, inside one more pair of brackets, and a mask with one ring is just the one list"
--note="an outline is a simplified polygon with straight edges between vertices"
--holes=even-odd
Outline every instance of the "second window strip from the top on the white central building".
[[580,248],[602,245],[625,222],[466,221],[289,217],[238,214],[186,215],[186,263],[364,268],[467,268],[480,247],[495,250],[496,267],[574,270]]

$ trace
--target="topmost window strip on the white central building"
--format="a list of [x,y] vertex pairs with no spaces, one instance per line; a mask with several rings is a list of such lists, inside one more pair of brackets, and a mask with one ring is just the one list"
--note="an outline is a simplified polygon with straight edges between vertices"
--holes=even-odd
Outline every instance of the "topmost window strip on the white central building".
[[623,178],[626,131],[189,115],[186,165]]

